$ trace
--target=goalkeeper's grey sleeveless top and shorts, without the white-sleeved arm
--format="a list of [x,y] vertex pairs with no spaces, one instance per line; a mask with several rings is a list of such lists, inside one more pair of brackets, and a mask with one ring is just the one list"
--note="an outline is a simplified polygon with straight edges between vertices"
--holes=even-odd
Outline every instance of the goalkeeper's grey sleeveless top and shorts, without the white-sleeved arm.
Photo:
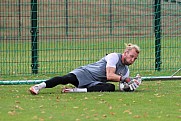
[[[113,54],[114,56],[111,56]],[[106,56],[118,58],[115,65],[116,74],[126,77],[129,76],[128,66],[122,64],[121,62],[122,55],[120,53],[110,53]],[[70,72],[76,75],[79,81],[78,85],[79,88],[90,87],[101,82],[111,81],[107,80],[106,78],[106,66],[109,61],[109,59],[107,59],[106,56],[95,63],[81,66]]]

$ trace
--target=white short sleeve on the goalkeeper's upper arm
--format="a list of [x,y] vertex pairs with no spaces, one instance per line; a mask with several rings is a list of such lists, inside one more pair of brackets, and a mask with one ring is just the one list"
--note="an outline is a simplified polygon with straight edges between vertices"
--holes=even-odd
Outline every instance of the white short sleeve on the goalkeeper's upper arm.
[[116,53],[110,53],[105,57],[105,60],[107,61],[106,67],[116,68],[119,56]]

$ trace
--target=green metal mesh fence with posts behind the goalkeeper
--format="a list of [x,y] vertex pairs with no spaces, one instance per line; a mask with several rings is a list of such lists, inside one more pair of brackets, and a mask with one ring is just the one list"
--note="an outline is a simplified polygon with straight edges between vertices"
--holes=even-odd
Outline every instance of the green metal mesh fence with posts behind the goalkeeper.
[[64,74],[141,47],[132,71],[181,67],[181,4],[162,0],[1,0],[0,74]]

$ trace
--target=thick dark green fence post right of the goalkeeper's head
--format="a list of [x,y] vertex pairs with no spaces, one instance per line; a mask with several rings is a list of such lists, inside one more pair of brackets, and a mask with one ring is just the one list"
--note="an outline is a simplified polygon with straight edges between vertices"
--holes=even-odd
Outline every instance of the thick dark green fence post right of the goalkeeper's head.
[[155,23],[155,70],[161,70],[161,0],[154,3],[154,23]]

